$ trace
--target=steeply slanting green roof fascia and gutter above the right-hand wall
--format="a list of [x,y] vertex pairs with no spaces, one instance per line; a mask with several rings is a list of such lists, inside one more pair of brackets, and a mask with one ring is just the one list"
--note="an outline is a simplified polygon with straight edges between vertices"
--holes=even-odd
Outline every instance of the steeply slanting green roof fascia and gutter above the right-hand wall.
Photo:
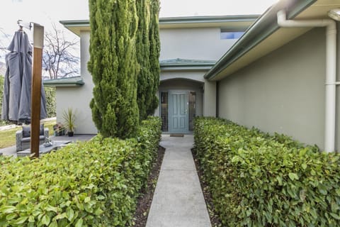
[[[242,35],[239,40],[232,45],[225,55],[223,55],[220,60],[218,60],[214,67],[212,67],[209,72],[204,76],[205,79],[212,79],[217,76],[222,70],[225,70],[229,65],[242,57],[246,52],[249,52],[256,45],[261,43],[263,40],[268,38],[269,35],[277,31],[280,27],[277,23],[276,13],[283,9],[280,6],[284,0],[278,2],[278,4],[272,6],[268,9],[261,17],[259,17],[252,26],[250,26],[244,35]],[[301,11],[307,9],[308,6],[313,4],[317,0],[304,0],[304,1],[290,1],[290,6],[285,9],[287,13],[287,18],[291,19],[297,16]],[[288,4],[289,5],[289,4]]]

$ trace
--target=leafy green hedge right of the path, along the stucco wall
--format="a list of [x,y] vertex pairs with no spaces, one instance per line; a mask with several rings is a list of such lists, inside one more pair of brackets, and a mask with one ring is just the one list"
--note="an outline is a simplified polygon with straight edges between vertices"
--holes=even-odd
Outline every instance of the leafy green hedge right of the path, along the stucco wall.
[[339,153],[217,118],[194,136],[223,226],[340,226]]

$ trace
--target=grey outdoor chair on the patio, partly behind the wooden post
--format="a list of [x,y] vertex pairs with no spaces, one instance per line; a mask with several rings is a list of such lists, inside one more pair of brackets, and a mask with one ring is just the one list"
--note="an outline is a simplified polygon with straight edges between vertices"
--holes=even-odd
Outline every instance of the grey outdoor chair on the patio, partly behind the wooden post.
[[[48,138],[48,128],[40,125],[39,144],[45,143]],[[26,150],[30,148],[30,126],[23,126],[23,129],[16,131],[16,151]]]

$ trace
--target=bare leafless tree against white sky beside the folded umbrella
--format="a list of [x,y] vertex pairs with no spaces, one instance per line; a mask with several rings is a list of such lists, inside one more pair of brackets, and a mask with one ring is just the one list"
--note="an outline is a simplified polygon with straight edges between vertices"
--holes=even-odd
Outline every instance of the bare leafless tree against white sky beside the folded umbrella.
[[42,67],[50,79],[72,77],[79,74],[79,57],[72,54],[79,46],[77,40],[66,40],[64,32],[52,24],[53,31],[45,33]]

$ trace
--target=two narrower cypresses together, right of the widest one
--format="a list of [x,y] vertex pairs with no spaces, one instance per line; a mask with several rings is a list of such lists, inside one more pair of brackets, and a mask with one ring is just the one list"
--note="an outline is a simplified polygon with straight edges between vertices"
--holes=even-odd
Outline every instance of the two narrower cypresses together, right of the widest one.
[[158,106],[159,86],[159,1],[137,1],[138,31],[136,39],[137,60],[140,63],[138,75],[137,103],[140,119],[154,114]]

